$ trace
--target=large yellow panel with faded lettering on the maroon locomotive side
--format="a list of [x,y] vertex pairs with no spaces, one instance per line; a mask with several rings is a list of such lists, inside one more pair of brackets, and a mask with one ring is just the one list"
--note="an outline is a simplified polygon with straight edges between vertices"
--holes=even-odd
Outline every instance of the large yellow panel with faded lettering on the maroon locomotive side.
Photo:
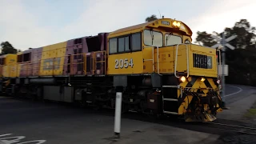
[[[66,42],[57,43],[42,48],[40,75],[62,75],[66,54]],[[58,64],[57,59],[60,58]],[[46,62],[49,61],[49,62]],[[53,68],[54,66],[54,68]],[[59,68],[57,68],[59,66]],[[51,68],[50,68],[51,67]]]

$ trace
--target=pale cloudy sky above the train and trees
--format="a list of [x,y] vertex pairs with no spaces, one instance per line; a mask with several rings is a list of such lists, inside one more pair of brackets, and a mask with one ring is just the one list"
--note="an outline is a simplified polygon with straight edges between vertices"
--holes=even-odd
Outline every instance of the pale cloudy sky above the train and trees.
[[[0,0],[0,42],[27,50],[145,22],[151,14],[220,33],[240,19],[256,26],[255,0]],[[159,14],[160,12],[160,14]]]

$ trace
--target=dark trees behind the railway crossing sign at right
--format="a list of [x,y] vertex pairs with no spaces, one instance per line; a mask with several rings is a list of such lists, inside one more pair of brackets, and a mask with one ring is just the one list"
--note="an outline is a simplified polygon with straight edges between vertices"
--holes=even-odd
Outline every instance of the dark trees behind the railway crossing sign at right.
[[[203,46],[214,46],[217,43],[206,31],[198,31],[197,34],[196,42]],[[226,64],[229,65],[229,76],[226,77],[226,82],[256,86],[255,27],[250,26],[250,22],[246,19],[241,19],[235,22],[232,28],[225,29],[226,38],[234,34],[238,37],[228,43],[234,46],[235,50],[226,48]],[[222,36],[216,32],[214,35],[219,38]]]

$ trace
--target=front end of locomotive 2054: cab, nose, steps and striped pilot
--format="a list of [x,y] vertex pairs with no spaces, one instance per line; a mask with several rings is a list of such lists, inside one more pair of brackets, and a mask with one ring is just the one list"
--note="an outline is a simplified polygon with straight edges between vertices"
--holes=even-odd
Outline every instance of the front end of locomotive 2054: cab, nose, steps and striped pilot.
[[110,33],[107,73],[114,75],[114,86],[126,88],[128,101],[146,99],[139,106],[150,114],[214,121],[222,110],[216,50],[190,44],[191,36],[186,24],[170,18]]

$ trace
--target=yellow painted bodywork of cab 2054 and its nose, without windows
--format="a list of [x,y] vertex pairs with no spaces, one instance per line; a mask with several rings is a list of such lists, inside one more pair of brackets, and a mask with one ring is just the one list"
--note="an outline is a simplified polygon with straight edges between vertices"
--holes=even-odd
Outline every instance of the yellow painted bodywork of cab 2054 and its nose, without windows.
[[[177,46],[165,46],[166,40],[165,40],[165,34],[170,34],[172,32],[174,35],[178,35],[182,37],[182,42],[185,42],[186,40],[192,41],[191,35],[192,31],[186,24],[181,22],[181,26],[179,29],[175,28],[173,26],[173,22],[180,22],[174,19],[170,18],[163,18],[159,20],[155,20],[153,22],[146,22],[142,23],[136,26],[130,26],[126,27],[120,30],[115,30],[114,32],[110,33],[108,36],[108,39],[110,38],[117,38],[121,37],[126,34],[134,34],[137,32],[142,33],[142,53],[136,52],[136,54],[133,54],[134,52],[127,52],[122,54],[110,54],[109,55],[109,62],[108,62],[108,71],[107,74],[151,74],[151,73],[157,73],[160,74],[174,74],[174,65],[175,61],[177,61],[176,71],[179,73],[186,74],[189,70],[190,75],[198,75],[198,76],[205,76],[205,77],[217,77],[217,67],[216,67],[216,61],[215,54],[216,50],[211,49],[209,47],[205,46],[198,46],[198,45],[192,45],[187,44],[186,46],[180,45],[178,46],[178,55],[176,58],[176,49]],[[165,22],[169,22],[167,25],[165,25]],[[144,44],[144,30],[152,29],[154,31],[162,32],[163,36],[163,47],[152,48],[149,46],[146,46]],[[179,32],[177,30],[180,30]],[[175,31],[175,32],[174,32]],[[184,35],[185,32],[186,35]],[[109,45],[108,45],[109,46]],[[186,47],[188,49],[188,53],[186,51]],[[154,54],[154,58],[153,58]],[[207,56],[212,57],[212,69],[202,69],[202,68],[194,68],[194,60],[193,60],[193,54],[204,54]],[[122,69],[122,70],[115,70],[114,68],[114,60],[117,58],[134,58],[134,56],[138,56],[139,58],[134,59],[134,66],[142,66],[142,67],[136,67],[136,70],[132,69]],[[187,62],[188,58],[188,62]],[[143,62],[144,59],[144,62]],[[154,59],[154,60],[150,60]],[[153,67],[154,66],[154,67]]]

